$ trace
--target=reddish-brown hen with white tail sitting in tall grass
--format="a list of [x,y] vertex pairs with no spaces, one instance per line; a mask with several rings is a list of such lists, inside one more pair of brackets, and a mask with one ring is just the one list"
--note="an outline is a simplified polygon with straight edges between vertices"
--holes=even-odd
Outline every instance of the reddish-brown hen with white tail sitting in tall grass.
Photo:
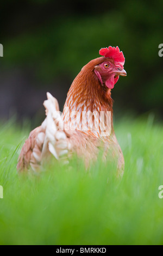
[[99,50],[99,57],[87,63],[74,79],[63,113],[58,101],[47,93],[46,118],[29,134],[18,157],[18,170],[32,167],[38,171],[48,157],[56,159],[73,153],[82,157],[86,167],[103,150],[103,160],[117,161],[117,176],[124,172],[124,157],[112,123],[111,89],[119,76],[126,76],[124,56],[117,47]]

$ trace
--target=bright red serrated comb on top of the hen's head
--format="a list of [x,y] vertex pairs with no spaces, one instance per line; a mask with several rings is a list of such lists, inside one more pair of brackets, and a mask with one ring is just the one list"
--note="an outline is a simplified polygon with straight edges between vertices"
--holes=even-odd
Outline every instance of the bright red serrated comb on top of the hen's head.
[[99,54],[104,57],[113,58],[114,62],[116,63],[118,62],[121,65],[124,65],[125,58],[124,58],[123,52],[122,51],[120,52],[120,49],[118,46],[116,48],[112,46],[109,46],[108,48],[107,47],[101,48],[101,50],[99,50]]

